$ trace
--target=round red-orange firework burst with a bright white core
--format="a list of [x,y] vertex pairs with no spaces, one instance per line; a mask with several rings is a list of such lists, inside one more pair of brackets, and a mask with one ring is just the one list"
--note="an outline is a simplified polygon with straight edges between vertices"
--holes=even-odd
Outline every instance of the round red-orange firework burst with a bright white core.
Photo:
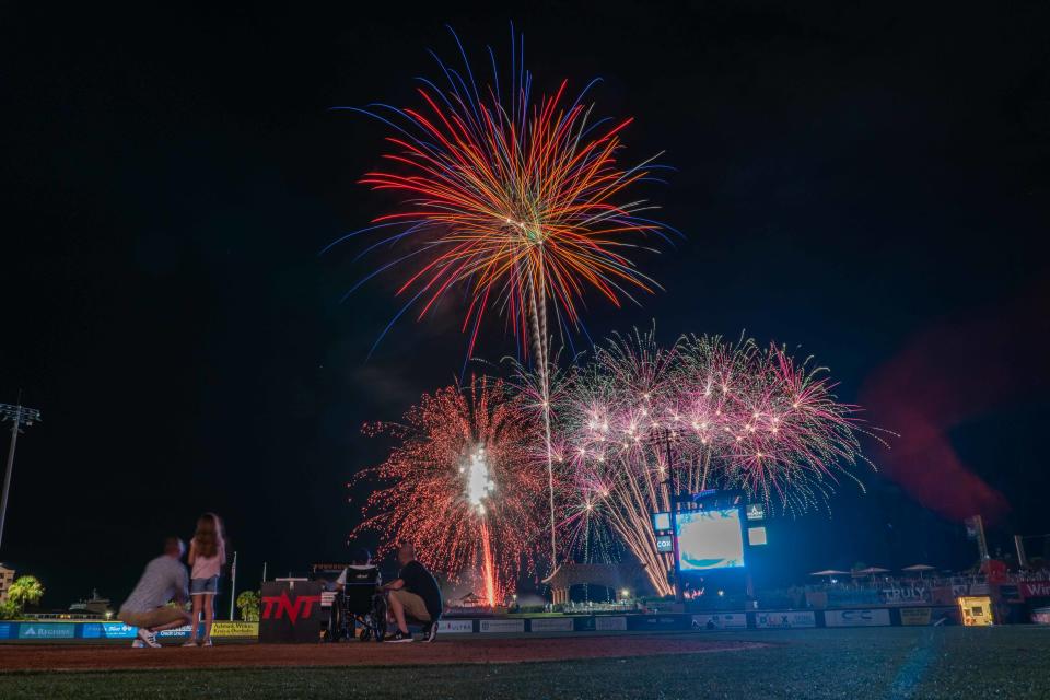
[[359,479],[376,481],[354,530],[411,541],[423,563],[471,579],[501,604],[534,567],[544,528],[547,475],[536,458],[538,425],[502,382],[486,378],[424,395],[401,423],[365,425],[398,440],[387,459]]

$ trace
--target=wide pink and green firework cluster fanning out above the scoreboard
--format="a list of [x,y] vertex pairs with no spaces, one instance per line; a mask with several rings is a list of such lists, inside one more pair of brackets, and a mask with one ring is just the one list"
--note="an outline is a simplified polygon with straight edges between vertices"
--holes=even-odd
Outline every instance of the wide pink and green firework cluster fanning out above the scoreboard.
[[674,493],[740,489],[770,510],[802,513],[826,505],[838,479],[855,479],[851,468],[867,462],[856,407],[836,400],[821,369],[777,346],[690,336],[662,348],[635,332],[599,347],[569,384],[555,416],[576,499],[660,593],[670,593],[670,562],[650,516],[672,510]]

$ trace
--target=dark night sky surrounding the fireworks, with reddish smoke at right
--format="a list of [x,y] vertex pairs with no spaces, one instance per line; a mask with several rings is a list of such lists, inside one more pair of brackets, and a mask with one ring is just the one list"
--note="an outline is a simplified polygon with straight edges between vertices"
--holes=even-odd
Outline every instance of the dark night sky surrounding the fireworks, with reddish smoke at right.
[[[476,66],[486,44],[509,61],[512,20],[539,91],[600,75],[597,112],[637,118],[626,160],[676,168],[645,194],[687,240],[638,260],[666,291],[591,298],[591,335],[655,319],[665,340],[798,347],[901,434],[865,445],[866,494],[771,526],[760,584],[969,565],[978,510],[993,546],[1050,532],[1046,7],[654,4],[7,4],[0,401],[22,389],[44,422],[19,442],[0,560],[46,607],[119,603],[205,510],[242,587],[264,561],[345,558],[346,482],[386,446],[362,422],[454,381],[466,339],[450,300],[366,361],[396,278],[340,303],[377,262],[318,252],[393,203],[355,183],[386,131],[329,108],[415,104],[427,49],[456,58],[446,22]],[[490,360],[514,351],[501,328]]]

